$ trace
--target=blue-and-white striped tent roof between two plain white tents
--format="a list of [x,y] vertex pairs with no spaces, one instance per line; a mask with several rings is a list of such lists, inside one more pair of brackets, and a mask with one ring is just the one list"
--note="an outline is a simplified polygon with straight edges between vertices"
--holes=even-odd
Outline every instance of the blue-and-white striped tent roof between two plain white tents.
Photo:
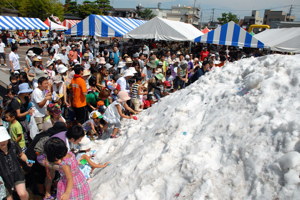
[[199,36],[195,42],[228,46],[264,48],[264,43],[242,29],[233,21]]

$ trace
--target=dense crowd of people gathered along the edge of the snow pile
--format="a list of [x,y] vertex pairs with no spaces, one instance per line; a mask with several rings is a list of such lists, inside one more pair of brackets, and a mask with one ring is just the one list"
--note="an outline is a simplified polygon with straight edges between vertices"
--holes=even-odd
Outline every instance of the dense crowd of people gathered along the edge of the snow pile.
[[29,50],[25,66],[18,46],[11,47],[11,83],[0,111],[0,198],[25,200],[30,188],[44,199],[91,199],[93,170],[109,165],[95,163],[91,141],[117,138],[123,118],[136,119],[229,58],[218,47],[188,53],[186,44],[130,42],[120,52],[117,40],[53,40],[42,46],[47,62]]

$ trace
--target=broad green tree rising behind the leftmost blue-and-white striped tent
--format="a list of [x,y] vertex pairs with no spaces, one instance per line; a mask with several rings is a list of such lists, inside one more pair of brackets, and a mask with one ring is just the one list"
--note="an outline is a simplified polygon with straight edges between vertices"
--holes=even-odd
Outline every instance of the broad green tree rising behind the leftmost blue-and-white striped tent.
[[20,0],[19,12],[23,17],[46,20],[53,14],[63,20],[64,7],[58,0]]

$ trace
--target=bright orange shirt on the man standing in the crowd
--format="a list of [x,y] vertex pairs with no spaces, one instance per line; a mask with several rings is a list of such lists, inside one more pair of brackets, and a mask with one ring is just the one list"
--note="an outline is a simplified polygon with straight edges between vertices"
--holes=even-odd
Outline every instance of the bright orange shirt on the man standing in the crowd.
[[83,80],[81,76],[75,74],[71,84],[73,90],[73,106],[75,108],[86,106],[86,98],[83,94],[87,92],[85,80]]

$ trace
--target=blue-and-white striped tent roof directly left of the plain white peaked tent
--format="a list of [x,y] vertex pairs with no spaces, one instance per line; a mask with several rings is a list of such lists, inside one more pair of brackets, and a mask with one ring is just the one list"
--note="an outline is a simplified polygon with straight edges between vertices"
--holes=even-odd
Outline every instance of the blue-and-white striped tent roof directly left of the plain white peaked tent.
[[103,15],[90,15],[69,30],[66,35],[122,37],[147,21]]

